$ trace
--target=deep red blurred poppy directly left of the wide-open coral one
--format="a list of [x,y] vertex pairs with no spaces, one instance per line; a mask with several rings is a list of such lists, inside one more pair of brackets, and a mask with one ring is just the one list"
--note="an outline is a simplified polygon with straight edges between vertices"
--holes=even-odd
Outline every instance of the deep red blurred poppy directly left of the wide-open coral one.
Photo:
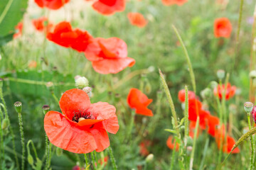
[[70,23],[65,21],[58,23],[53,33],[48,33],[47,38],[63,47],[72,47],[78,52],[85,51],[93,40],[92,35],[87,33],[86,30],[73,30]]

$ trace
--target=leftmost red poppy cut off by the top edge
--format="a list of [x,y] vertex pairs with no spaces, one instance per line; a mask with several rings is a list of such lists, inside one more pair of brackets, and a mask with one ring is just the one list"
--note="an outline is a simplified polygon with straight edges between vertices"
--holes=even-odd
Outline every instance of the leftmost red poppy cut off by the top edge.
[[46,7],[50,9],[58,9],[70,0],[35,0],[36,4],[41,8]]

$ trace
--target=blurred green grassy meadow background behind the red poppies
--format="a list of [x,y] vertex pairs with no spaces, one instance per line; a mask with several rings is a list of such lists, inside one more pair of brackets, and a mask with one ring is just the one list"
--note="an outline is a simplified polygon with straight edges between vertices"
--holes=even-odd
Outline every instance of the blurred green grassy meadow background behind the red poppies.
[[[71,0],[64,8],[57,11],[39,8],[33,0],[28,1],[28,7],[20,18],[20,21],[23,21],[22,35],[9,42],[0,43],[0,77],[4,79],[4,98],[16,136],[15,144],[19,159],[21,159],[21,143],[14,102],[23,103],[25,143],[33,140],[38,157],[43,158],[45,132],[42,106],[48,104],[50,110],[60,111],[51,90],[57,98],[60,98],[65,90],[75,88],[74,77],[80,75],[89,80],[93,89],[92,103],[107,101],[117,108],[120,128],[116,135],[109,136],[119,169],[145,169],[145,164],[148,164],[146,169],[180,169],[178,154],[172,157],[174,151],[166,146],[166,140],[171,133],[164,129],[173,128],[172,115],[161,86],[158,69],[160,68],[166,75],[166,82],[179,118],[183,118],[183,111],[178,101],[178,91],[184,89],[185,85],[192,90],[192,86],[186,57],[171,27],[172,24],[181,34],[191,58],[198,96],[210,81],[218,81],[216,76],[218,69],[230,73],[230,83],[237,86],[239,93],[227,102],[227,108],[230,105],[235,107],[232,113],[235,130],[231,134],[235,140],[238,140],[244,133],[244,128],[247,128],[243,103],[249,101],[250,93],[254,6],[255,1],[244,1],[240,37],[237,42],[240,8],[238,0],[229,1],[227,5],[218,4],[215,0],[189,0],[183,6],[164,6],[161,0],[131,0],[127,1],[125,11],[114,13],[112,16],[102,16],[91,8],[90,3],[82,0]],[[127,18],[129,12],[142,13],[149,23],[144,28],[132,26]],[[41,16],[46,16],[55,24],[64,20],[70,21],[73,28],[87,30],[94,37],[121,38],[127,43],[128,56],[134,58],[136,64],[117,74],[98,74],[82,52],[60,47],[48,41],[43,33],[33,28],[31,20]],[[231,37],[228,39],[215,38],[213,34],[215,18],[221,17],[229,18],[233,26]],[[31,61],[36,61],[36,67],[29,67]],[[253,65],[252,68],[255,69],[255,66]],[[112,89],[109,86],[110,80]],[[58,86],[48,89],[44,84],[48,81]],[[144,82],[146,86],[144,93],[153,99],[149,108],[154,116],[136,115],[132,139],[127,139],[127,129],[132,121],[131,109],[126,102],[127,94],[129,89],[139,89]],[[214,111],[211,113],[217,114]],[[203,147],[208,138],[210,142],[203,159]],[[146,163],[146,157],[139,153],[140,143],[143,140],[151,141],[148,150],[154,154],[154,159],[149,163]],[[9,135],[4,142],[6,167],[16,169],[13,166],[14,151]],[[187,152],[189,155],[190,152]],[[103,154],[107,155],[107,152]],[[97,153],[97,157],[102,157],[102,154]],[[218,147],[214,138],[202,132],[196,144],[193,169],[199,169],[202,160],[203,169],[216,169],[217,158]],[[80,160],[82,161],[81,155]],[[73,169],[77,162],[78,156],[71,152],[63,151],[60,156],[53,152],[51,168]],[[240,145],[240,153],[232,155],[223,169],[248,169],[249,162],[250,141],[248,140]],[[27,161],[26,169],[32,169]],[[108,161],[103,169],[112,169],[111,162]]]

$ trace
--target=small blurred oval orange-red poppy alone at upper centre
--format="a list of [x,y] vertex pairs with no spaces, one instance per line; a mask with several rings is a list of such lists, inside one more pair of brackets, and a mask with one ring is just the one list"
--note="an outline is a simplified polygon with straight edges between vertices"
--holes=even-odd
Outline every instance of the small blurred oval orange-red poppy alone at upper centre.
[[128,13],[127,17],[133,26],[143,28],[148,23],[141,13]]

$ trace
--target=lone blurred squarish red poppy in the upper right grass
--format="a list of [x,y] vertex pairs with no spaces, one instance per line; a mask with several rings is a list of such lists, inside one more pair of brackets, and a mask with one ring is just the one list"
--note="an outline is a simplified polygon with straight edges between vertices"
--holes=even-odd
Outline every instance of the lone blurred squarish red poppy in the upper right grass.
[[228,18],[217,18],[214,21],[214,35],[216,38],[229,38],[232,32],[232,25]]

